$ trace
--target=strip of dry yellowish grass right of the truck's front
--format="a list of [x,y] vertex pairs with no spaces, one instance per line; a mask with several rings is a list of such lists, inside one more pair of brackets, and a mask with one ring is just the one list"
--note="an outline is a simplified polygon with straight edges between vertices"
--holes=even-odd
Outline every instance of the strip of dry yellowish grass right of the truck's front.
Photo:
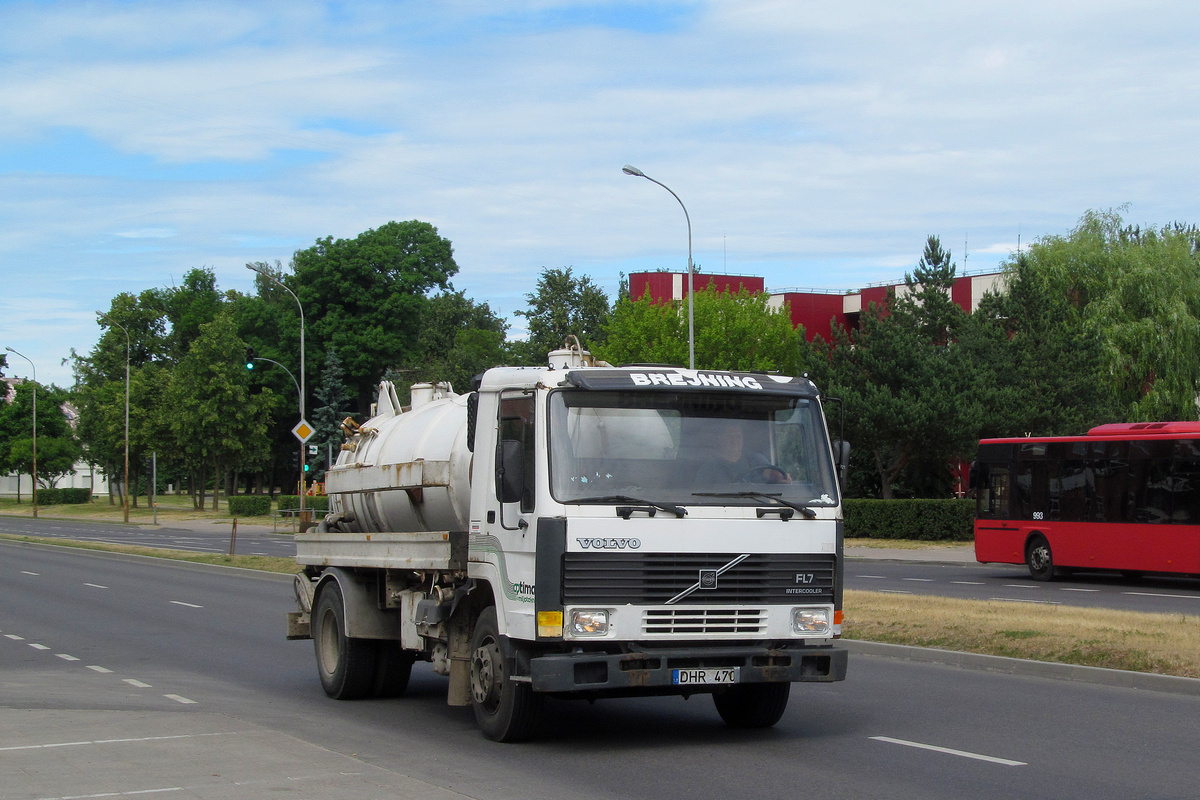
[[1200,616],[846,591],[850,639],[1200,678]]

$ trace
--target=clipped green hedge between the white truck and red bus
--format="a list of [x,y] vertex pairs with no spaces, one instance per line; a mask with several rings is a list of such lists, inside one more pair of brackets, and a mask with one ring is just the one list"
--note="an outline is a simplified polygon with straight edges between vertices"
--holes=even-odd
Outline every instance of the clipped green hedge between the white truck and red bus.
[[845,501],[846,539],[916,539],[970,542],[974,500]]

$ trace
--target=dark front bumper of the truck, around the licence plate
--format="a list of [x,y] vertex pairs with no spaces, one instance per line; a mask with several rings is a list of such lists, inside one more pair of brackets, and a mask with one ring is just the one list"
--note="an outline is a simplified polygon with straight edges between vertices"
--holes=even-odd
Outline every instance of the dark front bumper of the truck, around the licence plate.
[[[535,692],[676,693],[684,691],[673,681],[676,669],[738,667],[742,684],[832,682],[846,679],[846,662],[847,651],[834,646],[569,652],[530,658],[529,679]],[[688,691],[706,688],[690,686]]]

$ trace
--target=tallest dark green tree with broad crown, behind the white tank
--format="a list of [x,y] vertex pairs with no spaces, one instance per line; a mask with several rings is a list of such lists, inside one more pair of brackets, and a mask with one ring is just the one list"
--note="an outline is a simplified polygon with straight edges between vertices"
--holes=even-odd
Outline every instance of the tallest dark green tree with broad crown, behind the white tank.
[[426,293],[445,289],[458,271],[450,241],[416,219],[318,239],[292,266],[284,282],[304,305],[307,344],[337,350],[360,410],[384,371],[415,353]]

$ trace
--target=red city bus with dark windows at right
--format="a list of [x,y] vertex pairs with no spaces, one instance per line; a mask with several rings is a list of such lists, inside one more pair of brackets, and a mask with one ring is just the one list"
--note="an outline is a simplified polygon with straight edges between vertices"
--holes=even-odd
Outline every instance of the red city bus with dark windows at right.
[[978,561],[1200,575],[1200,422],[984,439],[971,482]]

